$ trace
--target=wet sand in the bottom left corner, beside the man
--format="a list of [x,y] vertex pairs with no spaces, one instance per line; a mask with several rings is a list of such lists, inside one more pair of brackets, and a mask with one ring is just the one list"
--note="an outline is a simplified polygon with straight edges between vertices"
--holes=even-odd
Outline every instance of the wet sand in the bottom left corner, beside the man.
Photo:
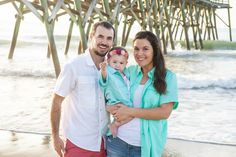
[[0,157],[56,157],[49,136],[0,131]]

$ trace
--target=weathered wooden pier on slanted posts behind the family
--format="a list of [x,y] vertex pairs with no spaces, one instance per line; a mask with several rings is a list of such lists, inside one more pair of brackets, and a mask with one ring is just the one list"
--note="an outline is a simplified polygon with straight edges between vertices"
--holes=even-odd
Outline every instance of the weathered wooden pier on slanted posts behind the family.
[[[56,76],[61,68],[53,30],[63,15],[70,17],[65,55],[73,27],[78,27],[80,33],[78,52],[84,52],[88,48],[91,26],[99,20],[110,21],[116,33],[122,32],[121,36],[116,34],[115,39],[115,45],[121,46],[126,46],[132,26],[138,23],[142,30],[150,30],[161,38],[165,54],[167,47],[175,49],[177,41],[184,41],[190,50],[191,42],[195,49],[204,49],[204,40],[219,40],[217,18],[229,29],[229,40],[232,41],[229,0],[0,0],[0,5],[8,3],[17,12],[8,59],[13,58],[24,15],[34,14],[45,26],[48,56],[53,60]],[[228,19],[216,14],[217,9],[226,9]],[[120,25],[122,30],[118,30]]]

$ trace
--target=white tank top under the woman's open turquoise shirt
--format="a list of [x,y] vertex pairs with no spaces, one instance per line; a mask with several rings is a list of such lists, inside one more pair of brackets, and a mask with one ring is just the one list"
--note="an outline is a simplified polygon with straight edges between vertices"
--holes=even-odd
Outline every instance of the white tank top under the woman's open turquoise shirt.
[[[143,87],[144,85],[139,85],[134,93],[133,105],[135,108],[140,108],[141,106]],[[141,146],[140,119],[134,118],[130,122],[120,126],[117,136],[130,145]]]

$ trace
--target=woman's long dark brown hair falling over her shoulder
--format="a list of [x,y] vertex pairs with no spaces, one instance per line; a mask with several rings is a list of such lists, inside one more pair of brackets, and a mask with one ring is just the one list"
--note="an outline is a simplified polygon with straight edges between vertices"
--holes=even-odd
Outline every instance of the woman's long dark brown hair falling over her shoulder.
[[150,31],[140,31],[138,32],[133,42],[137,39],[146,39],[150,42],[153,48],[153,66],[155,67],[154,72],[154,88],[160,94],[164,94],[166,92],[166,67],[165,60],[162,54],[161,41],[160,39]]

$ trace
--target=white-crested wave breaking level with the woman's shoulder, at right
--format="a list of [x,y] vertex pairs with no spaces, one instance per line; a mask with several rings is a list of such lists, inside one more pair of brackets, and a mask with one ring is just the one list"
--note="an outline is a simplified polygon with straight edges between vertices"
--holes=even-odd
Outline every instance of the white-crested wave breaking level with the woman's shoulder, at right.
[[178,87],[180,89],[206,89],[206,88],[222,88],[236,89],[236,78],[188,78],[184,76],[178,77]]

